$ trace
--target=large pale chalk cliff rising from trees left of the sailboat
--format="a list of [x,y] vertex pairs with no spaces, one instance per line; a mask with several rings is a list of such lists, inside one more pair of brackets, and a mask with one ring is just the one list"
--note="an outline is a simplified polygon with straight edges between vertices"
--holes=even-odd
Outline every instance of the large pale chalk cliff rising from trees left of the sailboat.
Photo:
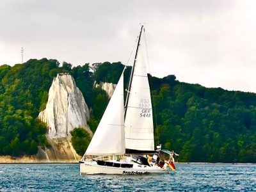
[[87,126],[88,106],[70,74],[58,74],[54,78],[46,108],[38,118],[49,127],[47,135],[50,139],[65,138],[77,127],[84,127],[92,134]]

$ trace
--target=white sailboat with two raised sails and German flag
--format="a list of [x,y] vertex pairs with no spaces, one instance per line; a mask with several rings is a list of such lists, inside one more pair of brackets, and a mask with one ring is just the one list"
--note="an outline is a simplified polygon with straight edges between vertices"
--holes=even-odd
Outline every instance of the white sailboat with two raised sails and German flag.
[[[81,175],[169,172],[168,164],[159,159],[161,145],[157,150],[154,147],[150,87],[140,43],[143,29],[141,26],[125,102],[123,71],[92,141],[79,161]],[[165,152],[173,156],[172,152]]]

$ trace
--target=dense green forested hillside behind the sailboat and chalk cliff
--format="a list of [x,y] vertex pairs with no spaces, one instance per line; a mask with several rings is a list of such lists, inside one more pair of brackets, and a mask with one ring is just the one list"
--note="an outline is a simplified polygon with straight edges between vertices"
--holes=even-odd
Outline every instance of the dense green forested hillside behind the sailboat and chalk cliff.
[[[69,72],[84,95],[95,131],[108,104],[96,81],[117,83],[122,63],[72,67],[56,60],[29,60],[0,66],[0,155],[36,154],[48,147],[46,127],[37,116],[45,108],[52,79]],[[125,84],[129,76],[125,71]],[[180,83],[175,76],[149,76],[154,105],[155,141],[184,162],[256,163],[256,94]]]

